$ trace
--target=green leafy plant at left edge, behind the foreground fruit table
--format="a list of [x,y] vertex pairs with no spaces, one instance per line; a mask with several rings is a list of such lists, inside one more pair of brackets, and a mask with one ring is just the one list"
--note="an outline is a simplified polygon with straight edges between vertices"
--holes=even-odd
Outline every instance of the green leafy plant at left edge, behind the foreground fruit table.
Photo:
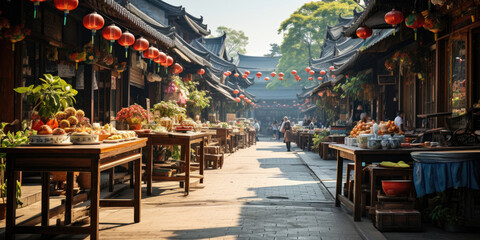
[[[9,148],[9,147],[16,147],[21,144],[28,143],[28,136],[30,134],[35,134],[30,130],[26,129],[26,122],[22,123],[22,130],[18,131],[17,133],[13,134],[12,132],[5,131],[5,127],[7,123],[1,123],[0,129],[0,143],[1,148]],[[5,209],[6,209],[6,196],[7,196],[7,181],[4,178],[5,172],[5,161],[6,154],[0,153],[0,198],[2,199],[0,202],[0,219],[5,218]],[[17,204],[22,205],[23,203],[20,201],[20,197],[22,196],[22,187],[21,183],[17,181]]]

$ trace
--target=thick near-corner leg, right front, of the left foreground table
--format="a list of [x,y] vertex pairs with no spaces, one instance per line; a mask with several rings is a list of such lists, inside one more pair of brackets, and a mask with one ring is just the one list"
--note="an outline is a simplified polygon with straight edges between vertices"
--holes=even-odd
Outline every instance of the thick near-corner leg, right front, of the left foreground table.
[[90,239],[99,239],[100,169],[97,160],[92,160],[92,189],[90,192]]

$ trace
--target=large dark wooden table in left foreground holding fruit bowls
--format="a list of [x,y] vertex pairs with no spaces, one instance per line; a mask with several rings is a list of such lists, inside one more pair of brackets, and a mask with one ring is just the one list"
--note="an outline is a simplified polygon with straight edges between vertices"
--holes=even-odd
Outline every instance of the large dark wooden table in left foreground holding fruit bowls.
[[[7,193],[6,239],[15,234],[88,234],[99,239],[100,207],[133,207],[134,221],[140,222],[142,147],[147,139],[99,145],[21,146],[3,148],[7,153],[8,189],[15,189],[17,171],[42,172],[41,226],[16,226],[16,191]],[[134,199],[100,200],[100,172],[134,162]],[[49,172],[66,171],[65,225],[49,226]],[[91,173],[90,226],[72,226],[74,172]]]

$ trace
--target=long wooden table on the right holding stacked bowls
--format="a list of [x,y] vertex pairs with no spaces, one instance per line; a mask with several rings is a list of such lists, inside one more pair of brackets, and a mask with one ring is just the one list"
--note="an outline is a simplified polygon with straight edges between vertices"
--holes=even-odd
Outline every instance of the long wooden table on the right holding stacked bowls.
[[[411,152],[415,151],[455,151],[479,149],[479,146],[461,147],[436,147],[436,148],[399,148],[399,149],[362,149],[347,146],[345,144],[330,144],[330,148],[337,150],[337,185],[335,190],[335,206],[340,207],[342,202],[346,207],[353,210],[354,221],[360,221],[361,209],[361,186],[362,186],[362,164],[382,161],[412,161]],[[354,161],[354,188],[353,202],[348,200],[342,193],[343,181],[343,160]]]

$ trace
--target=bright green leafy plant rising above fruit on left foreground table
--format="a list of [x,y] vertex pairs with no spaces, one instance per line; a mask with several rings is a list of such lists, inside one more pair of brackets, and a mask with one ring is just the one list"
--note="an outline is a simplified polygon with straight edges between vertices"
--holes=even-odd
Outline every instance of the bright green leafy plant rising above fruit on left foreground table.
[[27,101],[37,110],[40,117],[51,118],[58,111],[73,106],[78,91],[72,88],[59,76],[44,74],[40,78],[43,84],[13,89],[17,93],[26,94]]

